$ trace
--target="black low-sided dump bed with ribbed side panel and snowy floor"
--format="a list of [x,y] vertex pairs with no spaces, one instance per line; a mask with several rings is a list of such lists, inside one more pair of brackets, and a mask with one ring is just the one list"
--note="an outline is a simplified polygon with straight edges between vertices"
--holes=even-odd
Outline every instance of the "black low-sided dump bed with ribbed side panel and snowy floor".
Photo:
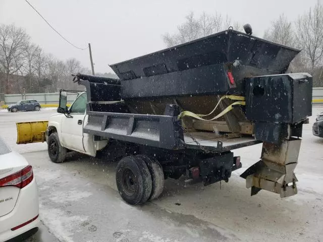
[[229,139],[212,132],[184,134],[177,116],[93,111],[88,115],[84,133],[155,148],[221,153],[260,143],[251,136]]

